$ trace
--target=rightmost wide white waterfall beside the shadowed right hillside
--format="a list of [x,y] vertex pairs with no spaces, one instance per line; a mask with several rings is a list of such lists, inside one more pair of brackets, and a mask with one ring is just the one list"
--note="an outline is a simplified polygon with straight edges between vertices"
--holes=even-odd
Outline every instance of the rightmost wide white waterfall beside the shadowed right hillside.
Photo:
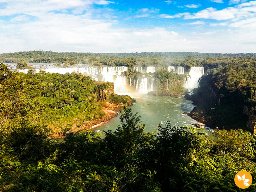
[[[193,66],[190,69],[187,77],[184,77],[184,87],[188,90],[192,90],[198,87],[198,80],[204,74],[204,67]],[[190,75],[190,76],[189,76]]]

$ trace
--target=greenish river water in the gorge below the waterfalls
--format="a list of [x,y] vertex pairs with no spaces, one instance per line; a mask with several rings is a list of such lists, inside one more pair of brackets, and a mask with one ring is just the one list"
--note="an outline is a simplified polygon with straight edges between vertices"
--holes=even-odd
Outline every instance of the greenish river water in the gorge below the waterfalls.
[[[117,93],[124,95],[124,93]],[[130,106],[133,113],[138,112],[141,124],[145,124],[145,132],[155,132],[158,124],[162,123],[164,127],[167,121],[170,121],[171,126],[193,126],[191,122],[197,122],[183,112],[191,112],[195,105],[192,101],[186,100],[184,97],[176,98],[169,96],[150,96],[146,94],[131,94],[127,93],[132,98],[136,99],[136,103]],[[120,113],[117,117],[110,119],[107,123],[93,129],[102,131],[116,130],[118,125],[121,125]],[[194,127],[194,126],[193,126]],[[212,131],[207,128],[203,129],[207,135],[212,135]]]

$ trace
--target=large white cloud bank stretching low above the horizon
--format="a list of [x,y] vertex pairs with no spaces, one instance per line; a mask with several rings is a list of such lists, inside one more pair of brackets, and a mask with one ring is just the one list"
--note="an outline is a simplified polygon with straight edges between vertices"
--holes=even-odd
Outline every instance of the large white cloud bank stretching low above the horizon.
[[[179,34],[166,28],[113,28],[114,21],[92,20],[83,15],[49,13],[40,21],[18,25],[0,24],[0,40],[5,46],[0,53],[52,50],[74,52],[171,52],[193,51],[209,53],[256,52],[250,39],[255,30],[219,29],[211,32]],[[249,23],[256,23],[251,20]],[[2,30],[5,28],[5,30]],[[11,31],[11,33],[10,33]],[[220,36],[220,34],[222,34]],[[250,39],[248,39],[250,37]],[[209,46],[209,44],[211,46]]]

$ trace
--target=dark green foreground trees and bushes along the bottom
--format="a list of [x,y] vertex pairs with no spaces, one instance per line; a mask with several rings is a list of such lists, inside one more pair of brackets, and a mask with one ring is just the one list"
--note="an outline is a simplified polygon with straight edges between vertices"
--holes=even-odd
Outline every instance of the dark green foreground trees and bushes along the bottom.
[[[145,133],[128,108],[120,121],[104,138],[85,131],[58,142],[43,126],[1,137],[0,191],[226,192],[240,191],[234,183],[238,171],[256,178],[256,138],[249,132],[217,130],[213,140],[167,122],[157,134]],[[255,190],[253,181],[243,191]]]

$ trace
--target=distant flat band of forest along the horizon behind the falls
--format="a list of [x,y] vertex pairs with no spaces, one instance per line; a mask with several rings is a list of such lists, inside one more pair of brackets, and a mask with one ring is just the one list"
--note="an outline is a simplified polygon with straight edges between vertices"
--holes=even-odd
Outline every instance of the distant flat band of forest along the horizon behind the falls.
[[[0,60],[3,62],[33,62],[33,63],[58,63],[74,65],[76,63],[92,63],[100,65],[181,65],[191,66],[195,60],[184,59],[193,57],[200,61],[207,57],[256,57],[256,53],[194,53],[194,52],[158,52],[158,53],[75,53],[75,52],[52,52],[52,51],[28,51],[17,53],[2,53]],[[60,65],[61,66],[61,65]],[[186,70],[186,69],[185,69]]]

